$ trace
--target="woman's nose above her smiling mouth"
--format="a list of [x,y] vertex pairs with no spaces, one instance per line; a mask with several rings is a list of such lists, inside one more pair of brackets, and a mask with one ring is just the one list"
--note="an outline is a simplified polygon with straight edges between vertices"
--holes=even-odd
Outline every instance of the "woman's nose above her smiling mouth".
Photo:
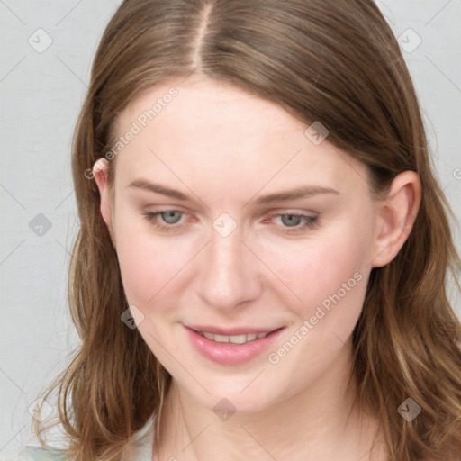
[[258,298],[261,263],[249,244],[242,241],[239,227],[227,237],[212,230],[199,265],[196,287],[203,303],[231,311]]

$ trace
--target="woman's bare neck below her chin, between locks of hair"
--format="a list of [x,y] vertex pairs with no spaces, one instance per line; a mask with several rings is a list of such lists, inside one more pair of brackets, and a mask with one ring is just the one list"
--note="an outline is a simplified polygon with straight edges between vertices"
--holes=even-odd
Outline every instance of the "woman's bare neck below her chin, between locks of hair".
[[285,400],[282,396],[263,411],[237,411],[225,421],[174,380],[164,413],[167,438],[160,444],[158,459],[319,461],[338,459],[339,454],[344,461],[382,459],[378,449],[383,450],[383,444],[370,451],[376,420],[353,407],[357,384],[354,377],[349,381],[350,350],[349,339],[335,362],[302,392]]

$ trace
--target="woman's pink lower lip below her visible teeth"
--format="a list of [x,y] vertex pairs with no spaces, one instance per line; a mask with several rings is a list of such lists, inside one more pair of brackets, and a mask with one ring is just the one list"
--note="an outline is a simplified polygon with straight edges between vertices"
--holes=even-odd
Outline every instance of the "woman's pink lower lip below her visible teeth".
[[244,344],[216,342],[205,338],[190,328],[185,327],[192,345],[203,357],[221,365],[239,365],[258,357],[280,336],[284,328],[269,333],[266,337],[255,339]]

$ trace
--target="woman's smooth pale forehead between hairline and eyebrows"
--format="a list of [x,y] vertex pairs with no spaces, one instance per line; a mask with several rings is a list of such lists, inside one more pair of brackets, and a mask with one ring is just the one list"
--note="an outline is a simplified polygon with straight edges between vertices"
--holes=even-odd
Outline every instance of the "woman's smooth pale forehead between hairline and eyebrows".
[[[166,97],[172,87],[176,95]],[[149,89],[122,113],[118,136],[136,134],[117,154],[116,176],[124,183],[139,175],[183,187],[199,183],[223,195],[232,188],[235,194],[235,185],[250,194],[265,183],[266,193],[291,183],[357,188],[365,166],[328,140],[314,145],[307,127],[279,105],[234,86],[173,80]]]

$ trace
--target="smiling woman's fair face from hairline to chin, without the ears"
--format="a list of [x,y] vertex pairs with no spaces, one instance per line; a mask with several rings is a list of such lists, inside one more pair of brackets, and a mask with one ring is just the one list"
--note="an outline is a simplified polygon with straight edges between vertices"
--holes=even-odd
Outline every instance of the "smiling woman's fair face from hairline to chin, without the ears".
[[[380,250],[366,167],[255,95],[172,86],[142,95],[118,125],[106,221],[123,286],[186,393],[262,410],[349,346]],[[103,192],[105,218],[108,203]]]

